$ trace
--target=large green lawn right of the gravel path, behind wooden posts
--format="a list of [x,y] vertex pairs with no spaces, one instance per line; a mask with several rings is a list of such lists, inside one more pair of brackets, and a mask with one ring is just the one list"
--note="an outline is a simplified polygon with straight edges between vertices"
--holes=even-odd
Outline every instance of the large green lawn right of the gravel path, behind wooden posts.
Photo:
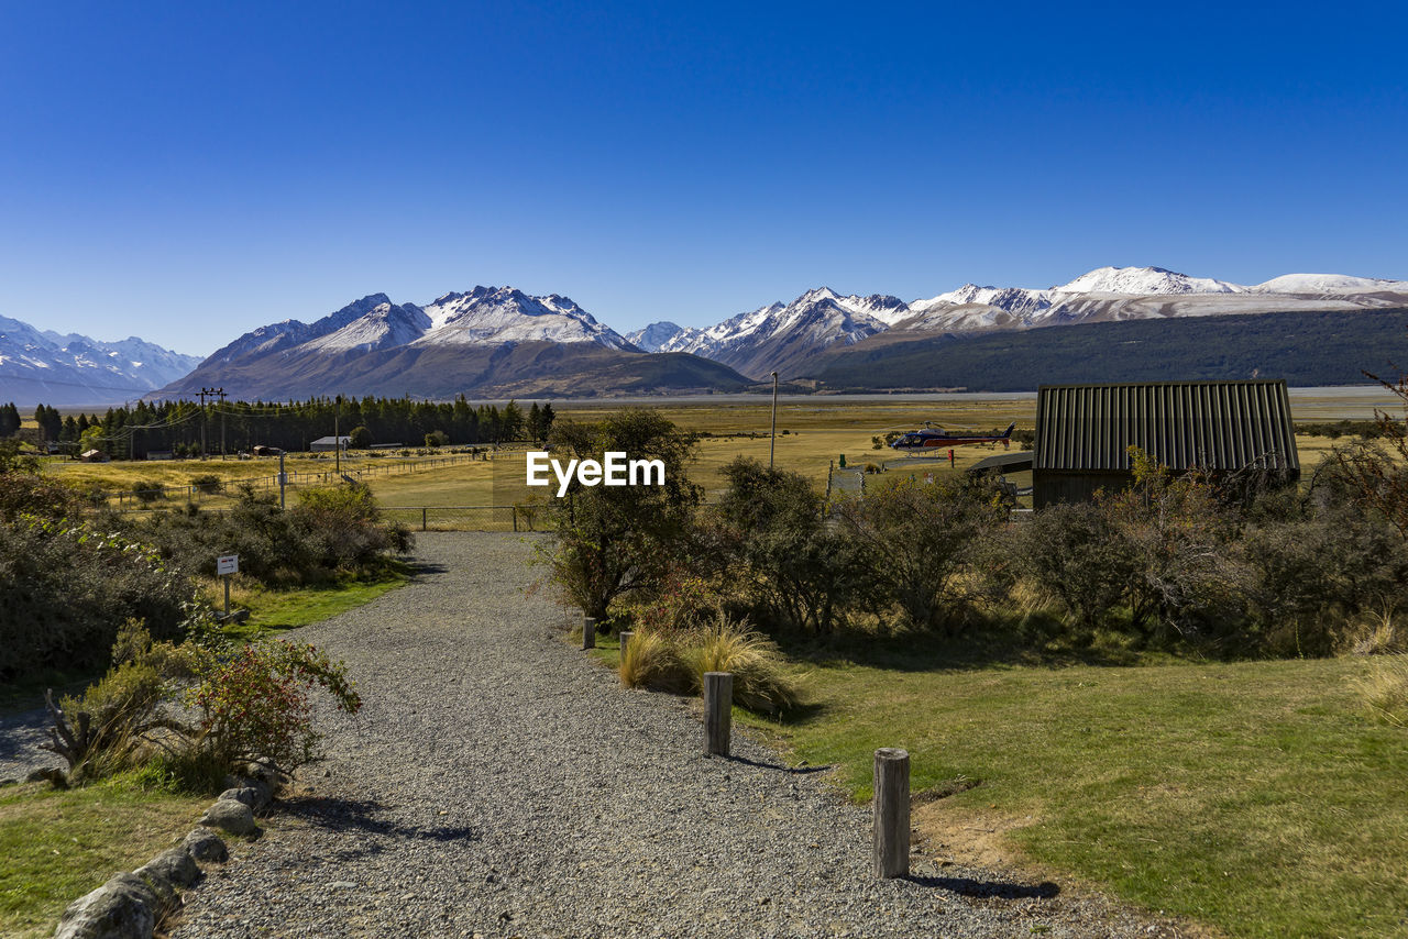
[[1026,819],[1048,870],[1232,936],[1408,935],[1408,731],[1371,722],[1363,659],[977,667],[810,666],[815,707],[779,726],[798,759],[870,797],[872,753],[903,746],[921,809]]

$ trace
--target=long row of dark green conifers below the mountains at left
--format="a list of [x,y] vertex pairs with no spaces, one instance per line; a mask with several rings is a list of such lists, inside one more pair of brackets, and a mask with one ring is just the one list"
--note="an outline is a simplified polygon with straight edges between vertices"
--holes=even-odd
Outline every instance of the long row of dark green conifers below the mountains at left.
[[[114,459],[144,459],[149,453],[177,456],[249,450],[273,446],[307,450],[313,441],[353,436],[353,445],[504,443],[542,441],[556,418],[551,404],[524,410],[517,401],[470,404],[384,397],[320,397],[284,404],[265,401],[138,401],[106,414],[63,417],[41,404],[34,411],[42,441],[75,452],[96,449]],[[21,415],[10,403],[0,405],[0,438],[20,431]]]

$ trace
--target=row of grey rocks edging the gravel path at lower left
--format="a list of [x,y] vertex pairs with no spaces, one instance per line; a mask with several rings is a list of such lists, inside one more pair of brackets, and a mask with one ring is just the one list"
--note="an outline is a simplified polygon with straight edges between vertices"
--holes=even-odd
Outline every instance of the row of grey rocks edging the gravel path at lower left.
[[255,811],[273,804],[283,777],[260,763],[251,763],[245,771],[248,776],[225,777],[230,788],[179,846],[69,904],[55,939],[152,939],[156,925],[182,908],[179,888],[200,880],[197,862],[222,864],[230,859],[217,829],[225,835],[259,835]]

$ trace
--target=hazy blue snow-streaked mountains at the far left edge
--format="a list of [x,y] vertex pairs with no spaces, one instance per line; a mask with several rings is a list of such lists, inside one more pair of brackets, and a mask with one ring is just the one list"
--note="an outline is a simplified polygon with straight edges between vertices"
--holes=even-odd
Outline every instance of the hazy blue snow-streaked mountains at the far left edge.
[[197,362],[137,336],[101,342],[0,317],[0,401],[20,407],[130,401],[179,379]]

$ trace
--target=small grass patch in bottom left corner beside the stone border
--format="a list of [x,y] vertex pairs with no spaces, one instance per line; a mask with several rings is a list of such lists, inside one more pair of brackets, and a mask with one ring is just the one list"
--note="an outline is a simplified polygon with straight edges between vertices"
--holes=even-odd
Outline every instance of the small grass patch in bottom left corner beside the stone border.
[[0,935],[52,936],[70,902],[177,843],[208,804],[131,777],[63,793],[0,790]]

